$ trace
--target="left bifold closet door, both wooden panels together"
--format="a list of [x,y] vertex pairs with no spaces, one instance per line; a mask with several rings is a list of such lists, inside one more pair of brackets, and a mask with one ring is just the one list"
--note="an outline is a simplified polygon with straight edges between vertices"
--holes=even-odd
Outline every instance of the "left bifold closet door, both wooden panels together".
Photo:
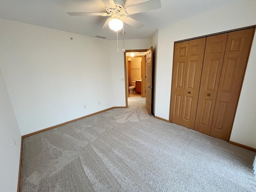
[[170,122],[194,129],[206,38],[175,44]]

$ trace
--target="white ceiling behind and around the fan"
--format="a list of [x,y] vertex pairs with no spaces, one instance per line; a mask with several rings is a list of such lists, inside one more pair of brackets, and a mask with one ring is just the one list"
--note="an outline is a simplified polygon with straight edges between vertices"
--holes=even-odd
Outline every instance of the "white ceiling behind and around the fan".
[[[126,6],[147,0],[126,0]],[[130,15],[145,24],[136,29],[124,24],[125,39],[148,39],[164,26],[243,0],[161,0],[162,8]],[[106,12],[101,0],[0,0],[0,18],[115,40],[112,30],[101,31],[102,16],[69,16],[67,12]],[[119,38],[122,38],[120,35]]]

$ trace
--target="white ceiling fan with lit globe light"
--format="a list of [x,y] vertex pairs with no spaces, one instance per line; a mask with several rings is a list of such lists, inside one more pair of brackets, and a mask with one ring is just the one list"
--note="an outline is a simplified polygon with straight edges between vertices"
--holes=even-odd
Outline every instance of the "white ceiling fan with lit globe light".
[[109,26],[110,29],[118,31],[123,28],[123,22],[135,28],[141,28],[144,26],[144,24],[128,17],[128,15],[161,8],[160,0],[148,0],[139,4],[125,7],[126,1],[129,0],[102,0],[106,6],[107,13],[68,12],[68,14],[70,16],[111,16],[106,20],[101,30],[107,30]]

